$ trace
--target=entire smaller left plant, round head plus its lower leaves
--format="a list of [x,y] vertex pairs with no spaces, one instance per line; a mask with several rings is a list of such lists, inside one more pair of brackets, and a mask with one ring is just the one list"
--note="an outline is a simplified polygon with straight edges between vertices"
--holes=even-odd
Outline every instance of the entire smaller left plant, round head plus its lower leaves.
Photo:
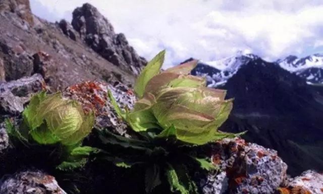
[[62,163],[57,166],[60,170],[82,167],[90,153],[98,152],[95,148],[81,146],[93,128],[94,113],[85,114],[79,103],[64,100],[61,93],[33,95],[22,116],[19,128],[10,120],[6,121],[12,141],[35,149],[48,146],[60,152]]

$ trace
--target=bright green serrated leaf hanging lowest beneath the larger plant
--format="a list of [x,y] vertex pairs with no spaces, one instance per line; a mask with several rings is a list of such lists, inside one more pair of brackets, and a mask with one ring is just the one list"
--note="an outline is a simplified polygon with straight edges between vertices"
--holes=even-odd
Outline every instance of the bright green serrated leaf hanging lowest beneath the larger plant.
[[189,191],[180,183],[175,169],[170,164],[168,165],[168,168],[166,170],[166,177],[170,184],[170,189],[172,192],[190,194]]

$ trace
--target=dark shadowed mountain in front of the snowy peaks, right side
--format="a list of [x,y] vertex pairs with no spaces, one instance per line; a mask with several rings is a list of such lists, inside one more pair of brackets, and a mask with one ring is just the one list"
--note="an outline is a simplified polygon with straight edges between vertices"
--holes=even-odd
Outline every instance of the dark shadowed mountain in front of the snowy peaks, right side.
[[313,86],[258,58],[220,88],[235,99],[223,130],[248,130],[246,139],[277,150],[292,175],[323,170],[323,96]]

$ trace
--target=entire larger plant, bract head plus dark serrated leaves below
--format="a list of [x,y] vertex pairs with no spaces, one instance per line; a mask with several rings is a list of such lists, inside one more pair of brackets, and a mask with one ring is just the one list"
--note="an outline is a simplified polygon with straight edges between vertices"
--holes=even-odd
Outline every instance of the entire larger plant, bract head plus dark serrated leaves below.
[[116,113],[139,138],[99,130],[102,153],[119,167],[144,165],[147,193],[163,180],[168,180],[172,192],[197,193],[192,169],[216,169],[203,148],[209,142],[240,135],[218,131],[233,100],[225,100],[225,90],[207,88],[205,78],[189,75],[197,61],[160,72],[164,58],[162,51],[137,78],[134,89],[138,101],[133,110],[119,108],[109,91]]

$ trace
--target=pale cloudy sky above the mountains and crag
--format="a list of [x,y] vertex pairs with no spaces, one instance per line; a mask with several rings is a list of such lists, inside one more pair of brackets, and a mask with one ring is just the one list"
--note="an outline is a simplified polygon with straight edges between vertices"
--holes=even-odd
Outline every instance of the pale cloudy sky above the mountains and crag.
[[219,60],[237,52],[267,61],[323,53],[323,1],[315,0],[30,0],[48,21],[72,20],[95,6],[150,60],[166,49],[166,67],[190,57]]

